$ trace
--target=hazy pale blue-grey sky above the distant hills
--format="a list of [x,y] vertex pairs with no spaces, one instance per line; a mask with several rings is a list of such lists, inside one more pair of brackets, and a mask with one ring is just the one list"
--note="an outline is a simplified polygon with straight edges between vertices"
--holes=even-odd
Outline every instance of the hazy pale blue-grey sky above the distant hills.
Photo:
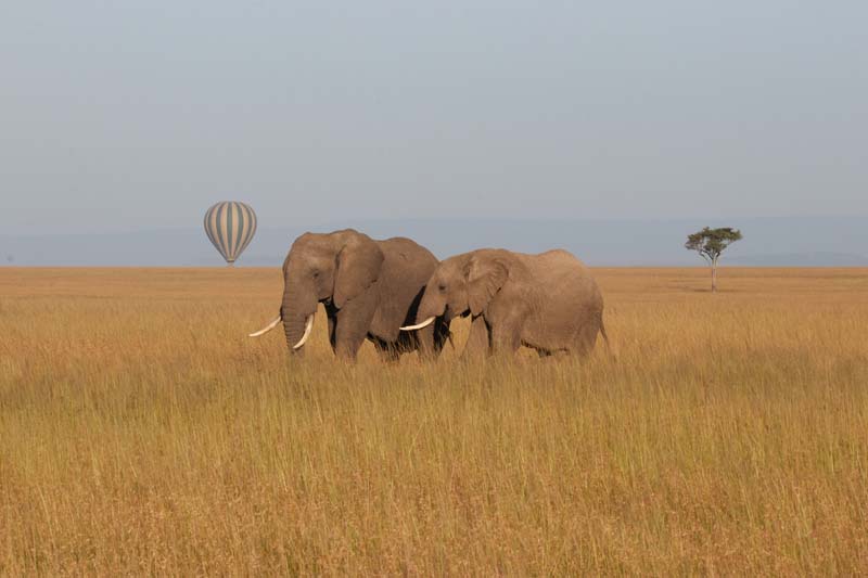
[[0,233],[868,216],[866,2],[324,4],[2,2]]

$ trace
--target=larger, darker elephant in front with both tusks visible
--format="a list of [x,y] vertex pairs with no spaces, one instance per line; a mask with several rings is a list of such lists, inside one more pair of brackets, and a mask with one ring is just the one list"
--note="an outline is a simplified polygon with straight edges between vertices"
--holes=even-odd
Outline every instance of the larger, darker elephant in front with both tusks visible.
[[436,257],[409,239],[374,241],[353,229],[305,233],[283,261],[280,314],[251,336],[282,321],[290,351],[301,352],[321,303],[329,318],[329,342],[339,358],[355,359],[366,338],[386,360],[412,350],[436,356],[449,336],[443,318],[424,327],[425,333],[399,331],[416,319],[425,283],[436,267]]

